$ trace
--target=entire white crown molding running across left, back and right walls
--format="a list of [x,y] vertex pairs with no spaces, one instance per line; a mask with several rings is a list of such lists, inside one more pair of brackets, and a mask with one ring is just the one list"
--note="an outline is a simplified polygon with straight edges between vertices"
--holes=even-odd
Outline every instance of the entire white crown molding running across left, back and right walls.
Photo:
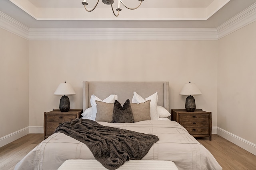
[[36,41],[217,40],[256,21],[256,4],[212,29],[30,29],[0,12],[0,27]]

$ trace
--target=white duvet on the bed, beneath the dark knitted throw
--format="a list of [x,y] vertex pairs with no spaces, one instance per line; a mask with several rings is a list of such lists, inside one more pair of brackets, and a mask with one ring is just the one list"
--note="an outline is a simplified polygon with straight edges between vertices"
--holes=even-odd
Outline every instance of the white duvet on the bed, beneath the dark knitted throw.
[[[98,123],[158,136],[159,141],[143,160],[170,160],[179,170],[222,170],[212,154],[175,121]],[[94,159],[94,156],[84,143],[55,133],[29,152],[15,170],[57,170],[68,159]]]

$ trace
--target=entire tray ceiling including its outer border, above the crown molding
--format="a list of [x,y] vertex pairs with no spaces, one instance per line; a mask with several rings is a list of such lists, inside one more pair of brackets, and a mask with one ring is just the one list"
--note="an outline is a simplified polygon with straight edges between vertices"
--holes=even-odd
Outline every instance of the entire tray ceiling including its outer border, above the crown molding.
[[[99,1],[86,12],[82,0],[0,0],[0,12],[28,28],[216,28],[256,0],[144,0],[136,10],[122,7],[118,17]],[[96,0],[87,0],[95,4]],[[134,7],[138,0],[123,0]],[[114,2],[114,8],[117,6]],[[92,8],[89,7],[88,8]]]

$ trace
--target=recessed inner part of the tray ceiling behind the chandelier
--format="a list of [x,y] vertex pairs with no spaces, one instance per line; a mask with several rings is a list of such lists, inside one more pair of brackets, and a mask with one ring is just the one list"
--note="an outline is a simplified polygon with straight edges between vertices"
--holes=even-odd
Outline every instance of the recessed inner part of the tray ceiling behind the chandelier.
[[[207,20],[230,0],[144,0],[136,10],[122,4],[118,17],[110,5],[100,0],[96,9],[86,12],[82,0],[10,0],[36,20]],[[97,0],[87,0],[92,9]],[[138,6],[138,0],[123,0],[126,6]],[[118,1],[114,1],[114,9]]]

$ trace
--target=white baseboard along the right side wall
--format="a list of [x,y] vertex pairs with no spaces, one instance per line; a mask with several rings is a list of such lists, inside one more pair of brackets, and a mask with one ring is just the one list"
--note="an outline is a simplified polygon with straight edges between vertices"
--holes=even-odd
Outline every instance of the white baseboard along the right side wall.
[[245,139],[242,139],[241,137],[238,137],[219,127],[217,127],[217,135],[220,135],[221,137],[227,139],[228,141],[238,145],[242,149],[247,150],[248,152],[256,155],[256,145],[254,143],[246,141]]

